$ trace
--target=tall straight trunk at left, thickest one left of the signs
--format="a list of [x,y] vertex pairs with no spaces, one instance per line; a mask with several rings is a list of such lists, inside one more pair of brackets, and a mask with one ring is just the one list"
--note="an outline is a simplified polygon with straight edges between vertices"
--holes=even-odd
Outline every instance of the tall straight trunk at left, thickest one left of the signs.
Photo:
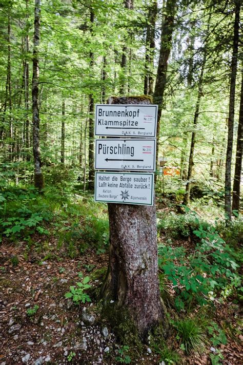
[[35,0],[34,10],[34,39],[33,39],[33,78],[32,78],[32,110],[33,110],[33,156],[34,156],[34,186],[41,190],[44,187],[42,162],[39,150],[39,28],[40,28],[40,0]]

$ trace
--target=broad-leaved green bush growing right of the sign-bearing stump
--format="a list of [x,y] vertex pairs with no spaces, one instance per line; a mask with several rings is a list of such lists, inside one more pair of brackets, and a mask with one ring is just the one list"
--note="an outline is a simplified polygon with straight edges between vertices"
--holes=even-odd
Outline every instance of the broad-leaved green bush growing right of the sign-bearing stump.
[[184,247],[158,247],[158,264],[166,278],[174,285],[175,306],[184,309],[185,303],[194,300],[205,304],[216,295],[227,297],[240,286],[238,265],[234,251],[219,236],[214,226],[200,224],[193,216],[198,229],[193,231],[200,242],[191,254]]

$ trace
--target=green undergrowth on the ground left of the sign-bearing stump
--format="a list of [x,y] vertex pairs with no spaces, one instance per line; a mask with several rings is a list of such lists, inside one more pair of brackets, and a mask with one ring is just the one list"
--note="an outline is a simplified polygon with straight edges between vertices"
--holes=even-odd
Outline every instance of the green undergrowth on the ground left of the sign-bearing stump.
[[10,184],[0,190],[0,238],[24,240],[30,247],[35,236],[42,235],[42,241],[53,242],[54,238],[59,252],[70,257],[87,248],[100,254],[108,244],[104,209],[105,205],[94,204],[89,193],[83,196],[52,186],[39,194],[32,186]]

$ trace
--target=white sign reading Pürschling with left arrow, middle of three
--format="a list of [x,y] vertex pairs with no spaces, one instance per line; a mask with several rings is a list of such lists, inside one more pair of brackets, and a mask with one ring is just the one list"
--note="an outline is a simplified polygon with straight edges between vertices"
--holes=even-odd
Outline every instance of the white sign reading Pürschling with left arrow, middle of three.
[[96,170],[155,171],[155,140],[98,139],[95,141]]

